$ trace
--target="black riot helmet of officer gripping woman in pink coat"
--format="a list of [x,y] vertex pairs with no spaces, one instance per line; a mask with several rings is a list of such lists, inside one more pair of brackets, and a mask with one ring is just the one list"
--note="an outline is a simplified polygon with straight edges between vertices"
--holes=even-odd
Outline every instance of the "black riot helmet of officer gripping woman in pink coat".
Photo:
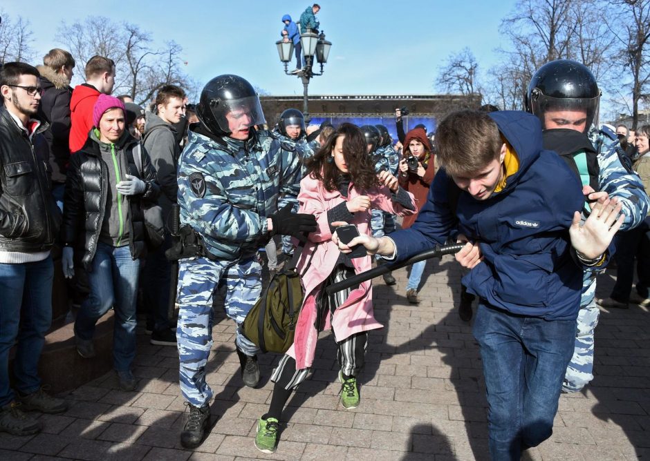
[[[266,123],[259,97],[247,80],[237,75],[219,75],[203,87],[196,106],[196,116],[210,133],[217,136],[232,134],[231,126]],[[227,117],[228,116],[228,117]]]

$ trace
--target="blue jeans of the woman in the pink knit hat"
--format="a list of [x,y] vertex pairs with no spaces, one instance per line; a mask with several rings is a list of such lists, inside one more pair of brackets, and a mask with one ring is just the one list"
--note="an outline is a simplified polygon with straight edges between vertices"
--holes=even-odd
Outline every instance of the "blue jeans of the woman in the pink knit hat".
[[75,335],[92,340],[97,320],[115,309],[113,330],[113,367],[117,371],[131,369],[136,357],[136,300],[140,260],[131,257],[129,246],[97,244],[92,271],[88,273],[91,288],[75,321]]

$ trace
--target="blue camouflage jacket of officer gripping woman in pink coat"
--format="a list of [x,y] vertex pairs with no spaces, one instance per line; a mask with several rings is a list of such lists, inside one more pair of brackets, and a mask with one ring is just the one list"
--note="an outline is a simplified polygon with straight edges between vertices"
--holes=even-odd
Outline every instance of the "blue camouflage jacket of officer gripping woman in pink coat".
[[266,244],[280,188],[299,186],[297,157],[281,152],[267,131],[247,141],[189,132],[178,161],[180,223],[200,233],[212,255],[234,261]]

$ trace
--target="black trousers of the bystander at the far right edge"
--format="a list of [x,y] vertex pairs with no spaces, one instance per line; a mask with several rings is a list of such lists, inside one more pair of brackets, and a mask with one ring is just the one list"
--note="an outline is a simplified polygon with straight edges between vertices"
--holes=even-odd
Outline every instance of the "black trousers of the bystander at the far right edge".
[[611,298],[628,302],[634,282],[634,259],[636,258],[638,283],[637,293],[644,298],[650,288],[650,230],[646,222],[640,226],[616,235],[616,283]]

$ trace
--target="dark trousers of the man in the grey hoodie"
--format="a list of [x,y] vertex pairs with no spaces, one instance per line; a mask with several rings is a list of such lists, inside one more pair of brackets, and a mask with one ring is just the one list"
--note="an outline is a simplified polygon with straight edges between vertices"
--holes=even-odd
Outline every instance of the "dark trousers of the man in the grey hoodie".
[[171,236],[166,233],[165,241],[160,248],[150,251],[147,255],[147,264],[142,271],[142,295],[147,306],[147,324],[153,324],[154,331],[169,328],[171,262],[165,256],[165,251],[169,248],[171,248]]

